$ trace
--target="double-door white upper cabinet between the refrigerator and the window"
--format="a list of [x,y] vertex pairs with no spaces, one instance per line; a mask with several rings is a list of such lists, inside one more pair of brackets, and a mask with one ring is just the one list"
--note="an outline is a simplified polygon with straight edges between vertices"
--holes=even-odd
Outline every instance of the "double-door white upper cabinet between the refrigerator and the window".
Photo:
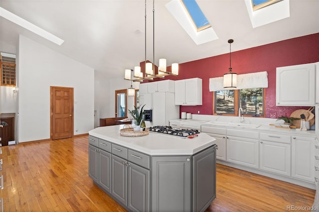
[[202,79],[176,80],[175,105],[202,105]]

